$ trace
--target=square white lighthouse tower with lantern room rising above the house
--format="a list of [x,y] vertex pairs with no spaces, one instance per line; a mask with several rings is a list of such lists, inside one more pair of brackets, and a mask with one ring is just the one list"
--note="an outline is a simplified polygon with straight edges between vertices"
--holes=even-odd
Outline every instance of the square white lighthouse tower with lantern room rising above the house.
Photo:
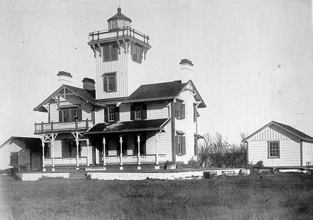
[[136,89],[141,63],[151,48],[149,37],[130,27],[132,20],[117,8],[108,30],[89,33],[96,60],[96,99],[122,98]]

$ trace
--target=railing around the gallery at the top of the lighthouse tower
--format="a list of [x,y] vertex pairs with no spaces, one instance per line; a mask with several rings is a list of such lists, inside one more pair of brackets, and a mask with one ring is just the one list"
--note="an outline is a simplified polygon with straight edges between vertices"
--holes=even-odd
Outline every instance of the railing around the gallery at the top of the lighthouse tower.
[[149,44],[148,40],[150,39],[146,34],[143,34],[137,30],[134,30],[132,27],[122,27],[115,30],[102,30],[98,32],[89,33],[89,43],[95,41],[101,41],[106,39],[113,39],[116,37],[133,37],[138,39],[143,43]]

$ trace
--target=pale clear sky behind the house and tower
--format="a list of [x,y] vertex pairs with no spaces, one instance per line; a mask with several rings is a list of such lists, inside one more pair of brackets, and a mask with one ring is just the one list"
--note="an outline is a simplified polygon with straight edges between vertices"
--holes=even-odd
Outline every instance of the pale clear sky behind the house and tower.
[[238,144],[274,120],[313,136],[312,1],[2,0],[0,144],[48,121],[33,109],[58,89],[58,71],[72,86],[95,79],[88,34],[119,6],[151,39],[142,84],[180,79],[180,60],[192,61],[207,105],[199,134]]

